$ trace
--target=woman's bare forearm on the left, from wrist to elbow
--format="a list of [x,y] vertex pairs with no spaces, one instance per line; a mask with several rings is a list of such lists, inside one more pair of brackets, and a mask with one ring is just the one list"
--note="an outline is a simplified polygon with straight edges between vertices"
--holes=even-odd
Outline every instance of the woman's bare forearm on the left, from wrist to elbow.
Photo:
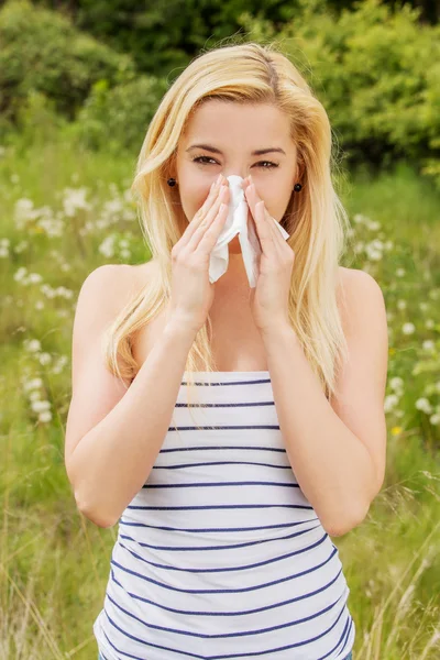
[[148,477],[196,333],[170,319],[127,394],[76,447],[70,459],[75,498],[97,525],[114,525]]

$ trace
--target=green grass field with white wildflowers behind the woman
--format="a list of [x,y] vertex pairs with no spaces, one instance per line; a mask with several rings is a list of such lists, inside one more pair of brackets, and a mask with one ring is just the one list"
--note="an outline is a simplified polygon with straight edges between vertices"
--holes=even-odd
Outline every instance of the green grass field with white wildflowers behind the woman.
[[[117,527],[81,516],[64,466],[72,324],[87,274],[150,254],[129,195],[136,154],[67,143],[0,153],[0,658],[96,660]],[[389,327],[384,487],[333,539],[355,660],[440,657],[440,195],[408,167],[352,175],[342,265],[370,272]]]

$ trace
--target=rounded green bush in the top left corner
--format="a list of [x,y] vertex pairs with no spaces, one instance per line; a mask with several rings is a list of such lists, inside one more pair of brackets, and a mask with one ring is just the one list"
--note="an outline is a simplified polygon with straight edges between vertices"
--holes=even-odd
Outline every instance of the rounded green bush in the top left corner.
[[12,0],[0,10],[0,43],[3,125],[18,122],[19,109],[34,91],[53,99],[56,112],[73,119],[94,82],[103,78],[114,85],[134,74],[129,56],[28,0]]

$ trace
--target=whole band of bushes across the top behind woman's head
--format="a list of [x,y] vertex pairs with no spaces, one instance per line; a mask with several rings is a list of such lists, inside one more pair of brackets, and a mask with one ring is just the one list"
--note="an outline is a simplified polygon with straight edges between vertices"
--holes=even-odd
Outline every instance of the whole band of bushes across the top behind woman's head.
[[[72,140],[135,154],[161,97],[193,56],[229,43],[275,42],[322,101],[349,167],[405,160],[440,188],[440,25],[421,23],[408,3],[392,10],[362,0],[339,13],[327,0],[256,2],[252,13],[246,0],[204,0],[197,11],[186,3],[185,12],[180,0],[72,7],[73,19],[28,0],[1,9],[0,130],[19,125],[30,140],[44,139],[58,114],[72,122]],[[132,53],[139,70],[72,21]]]

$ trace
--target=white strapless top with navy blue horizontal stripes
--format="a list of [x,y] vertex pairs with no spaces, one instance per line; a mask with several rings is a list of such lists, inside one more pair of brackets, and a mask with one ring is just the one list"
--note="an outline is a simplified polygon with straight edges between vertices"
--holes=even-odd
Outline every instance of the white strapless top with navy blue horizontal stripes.
[[[354,622],[338,549],[301,492],[268,371],[194,372],[118,522],[106,660],[343,660]],[[194,396],[196,392],[196,397]]]

